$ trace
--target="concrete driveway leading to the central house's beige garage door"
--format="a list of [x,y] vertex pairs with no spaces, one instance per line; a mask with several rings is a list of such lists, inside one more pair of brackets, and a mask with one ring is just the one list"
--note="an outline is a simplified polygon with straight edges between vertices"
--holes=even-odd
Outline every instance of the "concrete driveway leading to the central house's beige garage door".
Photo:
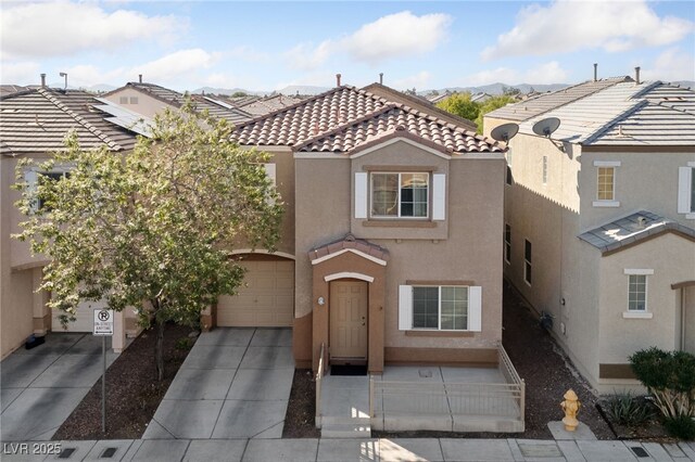
[[280,438],[293,376],[291,329],[202,333],[142,438]]

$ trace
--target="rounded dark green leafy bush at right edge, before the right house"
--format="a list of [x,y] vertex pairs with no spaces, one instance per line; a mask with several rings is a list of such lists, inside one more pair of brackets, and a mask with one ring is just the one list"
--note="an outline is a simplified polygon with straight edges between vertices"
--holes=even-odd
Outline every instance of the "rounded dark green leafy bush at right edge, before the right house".
[[630,364],[665,418],[695,415],[695,356],[652,347],[632,355]]

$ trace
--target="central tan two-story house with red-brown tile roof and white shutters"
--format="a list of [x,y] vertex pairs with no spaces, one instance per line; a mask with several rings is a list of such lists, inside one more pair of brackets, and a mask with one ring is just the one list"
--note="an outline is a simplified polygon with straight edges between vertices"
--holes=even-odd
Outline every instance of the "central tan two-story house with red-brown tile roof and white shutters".
[[298,368],[321,345],[375,373],[497,363],[505,146],[421,107],[342,86],[239,125],[273,155],[282,241],[237,251],[248,286],[204,322],[292,326]]

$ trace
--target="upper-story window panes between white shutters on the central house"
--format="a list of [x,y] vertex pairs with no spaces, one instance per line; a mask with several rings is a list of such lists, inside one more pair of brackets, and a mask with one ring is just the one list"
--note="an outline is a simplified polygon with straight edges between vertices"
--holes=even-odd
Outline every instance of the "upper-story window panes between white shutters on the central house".
[[429,174],[371,174],[371,216],[427,218]]

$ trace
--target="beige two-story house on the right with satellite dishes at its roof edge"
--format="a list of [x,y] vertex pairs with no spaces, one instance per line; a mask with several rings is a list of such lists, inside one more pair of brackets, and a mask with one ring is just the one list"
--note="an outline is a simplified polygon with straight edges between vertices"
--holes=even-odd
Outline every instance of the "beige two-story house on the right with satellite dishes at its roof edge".
[[[533,131],[551,117],[559,128]],[[509,141],[505,277],[599,393],[629,356],[695,352],[695,92],[590,81],[485,116]],[[538,126],[536,126],[538,127]]]

